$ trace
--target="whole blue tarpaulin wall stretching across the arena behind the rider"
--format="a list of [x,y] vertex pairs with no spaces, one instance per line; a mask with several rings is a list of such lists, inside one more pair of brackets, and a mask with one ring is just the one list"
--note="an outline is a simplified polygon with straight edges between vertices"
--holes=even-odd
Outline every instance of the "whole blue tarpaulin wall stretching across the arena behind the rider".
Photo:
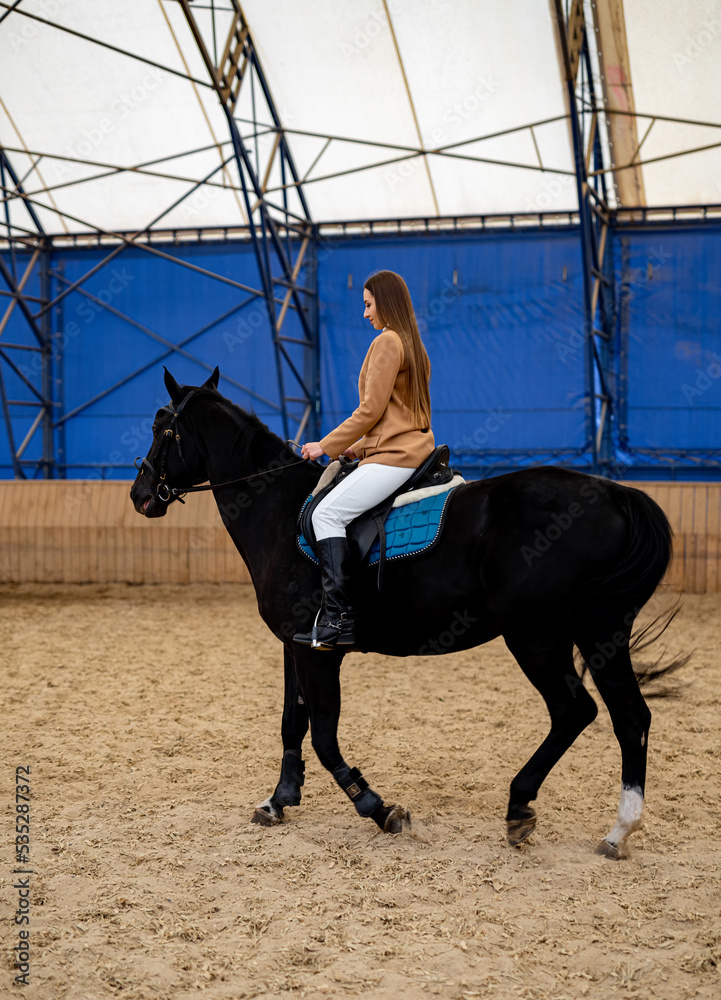
[[[454,464],[471,476],[551,461],[587,467],[579,244],[577,231],[325,241],[317,272],[323,431],[357,405],[358,373],[374,336],[363,319],[363,282],[388,268],[410,287],[433,365],[434,431],[451,446]],[[258,285],[247,244],[162,250]],[[53,251],[53,293],[108,252]],[[616,470],[639,477],[718,477],[721,227],[620,231],[610,253],[617,317],[611,358],[617,369],[611,372],[618,395]],[[18,258],[18,273],[28,259]],[[40,295],[37,273],[26,291]],[[133,458],[148,448],[152,416],[167,401],[163,364],[180,382],[205,380],[207,369],[192,357],[168,355],[168,344],[186,342],[195,358],[220,365],[221,391],[282,433],[262,301],[228,315],[247,298],[243,291],[139,249],[120,253],[84,282],[83,292],[94,299],[76,290],[52,316],[50,371],[61,419],[57,456],[69,476],[132,474]],[[0,314],[8,301],[0,302]],[[297,320],[291,316],[288,322],[286,332],[292,333]],[[36,345],[17,308],[0,350],[39,386],[37,353],[4,344]],[[2,372],[10,399],[32,399],[6,362]],[[286,391],[293,393],[292,384]],[[37,409],[16,406],[12,413],[17,447]],[[39,434],[23,457],[40,458]],[[0,475],[12,475],[4,432]]]

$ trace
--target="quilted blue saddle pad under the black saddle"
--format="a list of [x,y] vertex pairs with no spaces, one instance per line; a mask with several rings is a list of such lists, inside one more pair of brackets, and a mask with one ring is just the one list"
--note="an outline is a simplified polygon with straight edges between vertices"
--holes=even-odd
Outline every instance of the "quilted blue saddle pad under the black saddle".
[[[422,500],[403,504],[402,507],[391,508],[385,521],[386,560],[407,559],[432,548],[440,536],[446,507],[457,489],[454,486],[445,493],[435,493]],[[302,533],[298,534],[298,548],[312,562],[318,562]],[[376,538],[368,554],[368,565],[375,566],[380,562],[380,557],[380,541]]]

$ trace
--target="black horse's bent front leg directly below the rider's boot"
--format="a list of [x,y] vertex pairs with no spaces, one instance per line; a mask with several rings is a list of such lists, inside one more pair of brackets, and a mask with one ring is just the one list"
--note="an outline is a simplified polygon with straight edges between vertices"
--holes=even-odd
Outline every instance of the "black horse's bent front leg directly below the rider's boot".
[[349,767],[338,747],[340,718],[340,665],[343,653],[318,652],[307,646],[295,650],[296,672],[310,713],[313,749],[356,808],[385,833],[400,833],[410,826],[410,814],[399,805],[387,806],[356,767]]

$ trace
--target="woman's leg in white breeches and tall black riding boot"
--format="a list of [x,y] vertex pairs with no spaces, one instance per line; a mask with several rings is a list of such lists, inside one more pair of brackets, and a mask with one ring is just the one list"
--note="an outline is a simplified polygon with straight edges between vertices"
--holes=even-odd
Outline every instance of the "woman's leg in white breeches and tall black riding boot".
[[310,632],[293,636],[314,649],[355,645],[355,617],[348,583],[351,555],[345,529],[354,518],[394,493],[414,469],[368,463],[350,473],[313,512],[316,552],[321,568],[323,607]]

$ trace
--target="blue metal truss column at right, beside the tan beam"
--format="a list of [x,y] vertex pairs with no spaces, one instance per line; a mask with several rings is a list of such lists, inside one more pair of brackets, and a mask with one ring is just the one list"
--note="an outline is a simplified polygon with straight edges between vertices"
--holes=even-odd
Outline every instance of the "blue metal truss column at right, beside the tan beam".
[[[619,396],[616,356],[616,295],[609,247],[613,231],[623,227],[714,223],[717,206],[653,207],[645,204],[642,168],[721,146],[719,141],[641,159],[656,122],[721,130],[717,122],[645,114],[636,110],[630,80],[622,8],[584,0],[553,0],[561,68],[566,86],[574,154],[578,222],[583,261],[583,342],[586,375],[587,441],[594,472],[612,475],[618,446]],[[593,17],[593,23],[589,19]],[[603,50],[603,53],[600,51]],[[624,71],[627,107],[608,84],[606,62]],[[596,92],[594,78],[602,81]],[[637,125],[646,122],[638,138]]]

